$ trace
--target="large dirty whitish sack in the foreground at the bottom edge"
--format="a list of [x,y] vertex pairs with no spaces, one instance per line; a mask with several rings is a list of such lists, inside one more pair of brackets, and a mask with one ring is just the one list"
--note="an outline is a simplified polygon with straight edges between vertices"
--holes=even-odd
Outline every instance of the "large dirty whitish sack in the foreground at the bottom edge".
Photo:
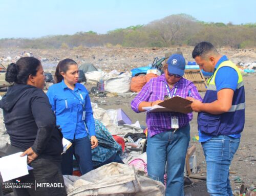
[[141,176],[134,167],[120,163],[103,165],[81,177],[63,177],[68,196],[165,195],[165,187],[161,182]]

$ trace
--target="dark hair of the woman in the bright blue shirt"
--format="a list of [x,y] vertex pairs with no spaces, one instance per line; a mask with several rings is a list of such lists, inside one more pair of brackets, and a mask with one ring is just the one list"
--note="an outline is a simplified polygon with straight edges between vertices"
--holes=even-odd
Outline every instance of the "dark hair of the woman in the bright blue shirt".
[[60,72],[64,72],[66,74],[66,72],[69,70],[69,66],[71,66],[72,64],[77,65],[76,61],[74,61],[70,58],[65,58],[65,59],[59,61],[59,63],[57,64],[57,67],[56,67],[55,75],[54,75],[56,83],[61,82],[63,79],[63,76],[61,76]]

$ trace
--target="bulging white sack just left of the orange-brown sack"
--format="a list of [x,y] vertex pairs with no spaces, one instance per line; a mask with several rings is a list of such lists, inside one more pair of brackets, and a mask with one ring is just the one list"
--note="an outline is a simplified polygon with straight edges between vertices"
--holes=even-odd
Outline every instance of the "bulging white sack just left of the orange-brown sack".
[[110,78],[105,81],[105,91],[111,93],[130,92],[131,78],[130,74],[122,74],[120,76]]

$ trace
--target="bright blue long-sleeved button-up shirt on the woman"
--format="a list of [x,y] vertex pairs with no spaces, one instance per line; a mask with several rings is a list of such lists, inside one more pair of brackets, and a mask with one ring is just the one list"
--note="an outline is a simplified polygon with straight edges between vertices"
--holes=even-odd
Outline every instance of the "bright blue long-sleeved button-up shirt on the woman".
[[88,135],[86,127],[90,136],[95,136],[91,100],[84,85],[76,83],[72,91],[62,80],[50,86],[47,96],[55,112],[57,125],[62,128],[63,137],[71,140],[84,138]]

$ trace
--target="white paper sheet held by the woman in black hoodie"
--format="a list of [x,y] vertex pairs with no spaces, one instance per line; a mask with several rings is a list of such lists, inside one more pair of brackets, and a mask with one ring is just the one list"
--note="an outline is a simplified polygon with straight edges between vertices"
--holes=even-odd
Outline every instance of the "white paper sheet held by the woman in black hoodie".
[[27,156],[20,157],[22,153],[0,158],[0,172],[4,182],[29,174]]

